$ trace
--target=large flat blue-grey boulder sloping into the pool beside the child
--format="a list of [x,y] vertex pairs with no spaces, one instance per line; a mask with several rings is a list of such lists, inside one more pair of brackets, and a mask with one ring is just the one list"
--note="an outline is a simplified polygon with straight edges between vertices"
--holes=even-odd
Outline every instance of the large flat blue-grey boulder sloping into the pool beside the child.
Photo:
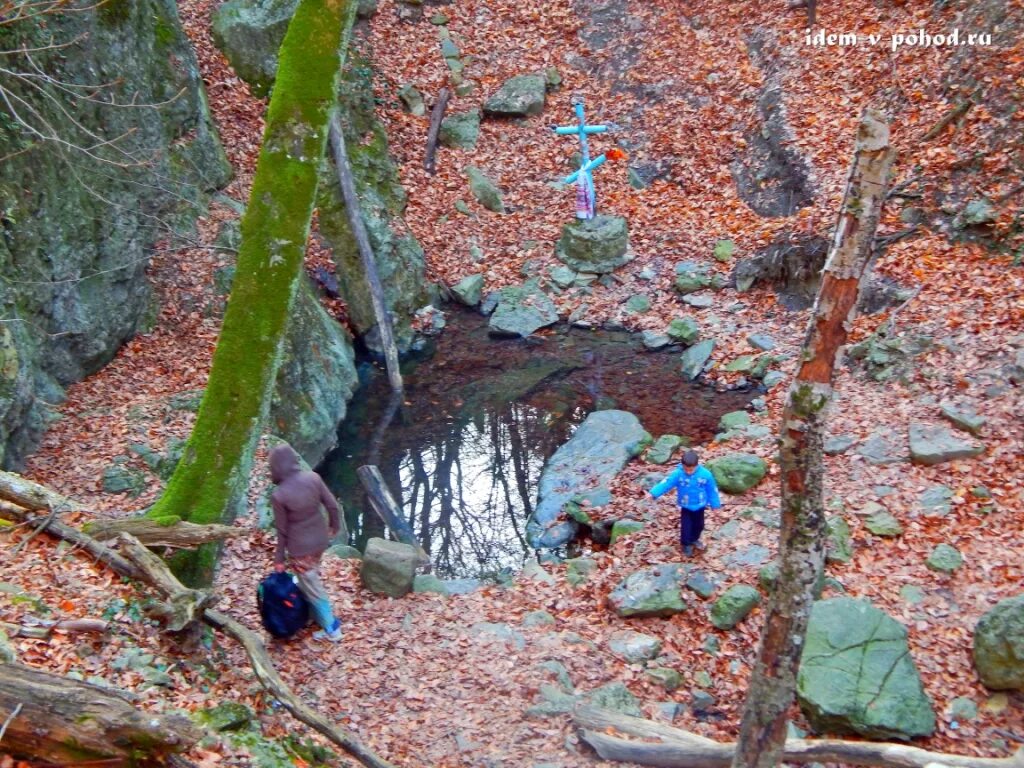
[[649,441],[640,421],[626,411],[598,411],[588,416],[541,473],[539,502],[526,522],[529,545],[561,547],[568,542],[579,526],[571,519],[562,519],[562,508],[577,495],[606,489],[626,462]]

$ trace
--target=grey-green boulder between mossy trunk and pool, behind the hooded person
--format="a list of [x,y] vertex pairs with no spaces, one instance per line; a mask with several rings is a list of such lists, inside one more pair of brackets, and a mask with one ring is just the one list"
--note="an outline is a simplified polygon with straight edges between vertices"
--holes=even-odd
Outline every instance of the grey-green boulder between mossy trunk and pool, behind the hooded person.
[[272,431],[316,466],[335,446],[357,385],[352,339],[303,280],[282,344],[270,401]]

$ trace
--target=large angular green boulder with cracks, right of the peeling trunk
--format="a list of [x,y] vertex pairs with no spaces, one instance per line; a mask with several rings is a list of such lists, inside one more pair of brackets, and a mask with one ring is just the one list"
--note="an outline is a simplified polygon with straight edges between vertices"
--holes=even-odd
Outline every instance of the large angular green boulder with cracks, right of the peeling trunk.
[[906,630],[866,600],[814,603],[797,697],[820,732],[909,739],[935,730],[935,712],[910,658]]

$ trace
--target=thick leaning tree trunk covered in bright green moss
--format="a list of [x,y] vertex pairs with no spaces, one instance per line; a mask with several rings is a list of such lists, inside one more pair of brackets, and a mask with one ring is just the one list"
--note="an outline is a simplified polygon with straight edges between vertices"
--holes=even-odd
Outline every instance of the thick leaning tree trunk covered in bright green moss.
[[[154,517],[227,522],[245,502],[305,254],[355,0],[302,0],[281,47],[224,324],[196,426]],[[209,583],[216,548],[177,556]]]

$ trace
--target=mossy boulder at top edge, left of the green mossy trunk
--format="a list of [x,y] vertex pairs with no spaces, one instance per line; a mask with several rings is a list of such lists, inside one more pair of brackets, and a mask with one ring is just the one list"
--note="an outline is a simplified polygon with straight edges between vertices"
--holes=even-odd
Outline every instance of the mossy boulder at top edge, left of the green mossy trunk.
[[213,12],[213,42],[253,93],[265,96],[278,74],[278,49],[299,0],[228,0]]

